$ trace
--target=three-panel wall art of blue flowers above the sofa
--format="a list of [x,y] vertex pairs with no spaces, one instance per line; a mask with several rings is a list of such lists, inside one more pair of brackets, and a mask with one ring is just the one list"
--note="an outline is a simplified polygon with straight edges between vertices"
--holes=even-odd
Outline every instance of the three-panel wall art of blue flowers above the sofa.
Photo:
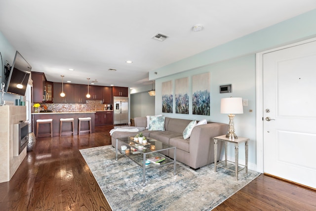
[[[162,112],[173,113],[172,81],[162,83]],[[189,114],[189,78],[175,80],[176,114]],[[210,73],[192,76],[192,114],[210,116]]]

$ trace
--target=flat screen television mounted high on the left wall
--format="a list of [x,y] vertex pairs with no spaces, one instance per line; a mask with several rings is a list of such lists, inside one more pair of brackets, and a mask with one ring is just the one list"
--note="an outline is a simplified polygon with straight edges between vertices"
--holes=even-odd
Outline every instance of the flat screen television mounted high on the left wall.
[[16,51],[7,82],[6,92],[24,96],[31,75],[31,69],[31,65]]

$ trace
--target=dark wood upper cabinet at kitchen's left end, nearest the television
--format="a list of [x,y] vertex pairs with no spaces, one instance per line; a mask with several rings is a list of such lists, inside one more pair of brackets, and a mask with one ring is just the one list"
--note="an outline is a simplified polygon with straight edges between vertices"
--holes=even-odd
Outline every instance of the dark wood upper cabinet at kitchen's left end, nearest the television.
[[33,102],[41,103],[45,101],[46,95],[44,87],[46,85],[46,78],[44,73],[33,72],[31,73],[33,81]]

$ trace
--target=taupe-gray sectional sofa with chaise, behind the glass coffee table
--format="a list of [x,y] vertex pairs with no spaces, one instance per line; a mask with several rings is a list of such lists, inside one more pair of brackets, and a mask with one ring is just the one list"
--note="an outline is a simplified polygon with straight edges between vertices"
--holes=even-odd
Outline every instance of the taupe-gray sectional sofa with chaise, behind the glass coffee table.
[[[146,127],[146,117],[134,118],[135,127]],[[191,120],[165,118],[165,130],[143,130],[146,137],[157,139],[161,142],[173,145],[177,148],[177,161],[180,161],[192,169],[199,169],[207,164],[214,163],[213,137],[227,133],[228,125],[223,123],[208,123],[193,128],[189,139],[183,138],[183,131]],[[112,134],[112,146],[116,146],[116,138],[135,136],[138,132],[115,131]],[[220,156],[221,142],[218,142],[218,158]],[[173,150],[163,151],[163,154],[174,158]]]

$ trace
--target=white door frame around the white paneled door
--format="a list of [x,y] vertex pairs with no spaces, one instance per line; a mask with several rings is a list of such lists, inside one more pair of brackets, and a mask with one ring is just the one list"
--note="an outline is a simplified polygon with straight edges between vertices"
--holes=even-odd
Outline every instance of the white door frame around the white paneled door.
[[300,44],[305,44],[308,42],[315,42],[316,38],[308,39],[301,42],[295,42],[292,44],[284,45],[281,47],[269,49],[256,53],[256,149],[257,149],[257,171],[264,172],[264,157],[263,157],[263,54],[274,52],[277,50],[293,47]]

